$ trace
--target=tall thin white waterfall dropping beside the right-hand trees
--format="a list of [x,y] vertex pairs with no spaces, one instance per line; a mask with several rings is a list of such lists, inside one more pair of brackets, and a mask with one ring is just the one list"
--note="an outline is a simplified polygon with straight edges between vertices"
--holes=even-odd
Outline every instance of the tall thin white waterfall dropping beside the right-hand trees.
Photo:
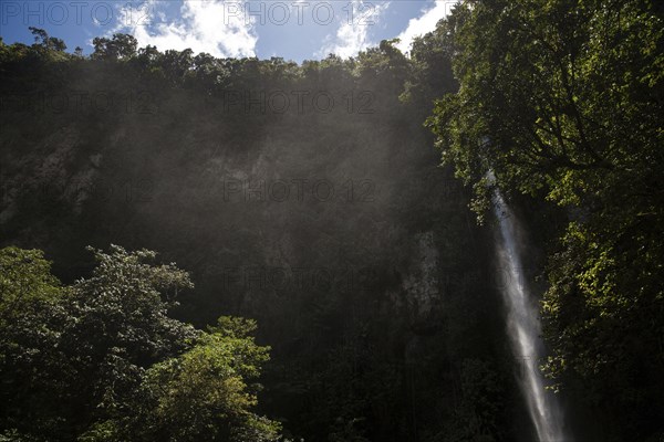
[[[518,224],[499,192],[495,194],[494,208],[500,227],[497,235],[497,252],[512,350],[517,358],[537,361],[542,355],[541,327],[538,308],[530,299],[525,282],[517,245]],[[551,393],[544,390],[542,375],[535,367],[528,367],[522,371],[520,387],[526,396],[538,440],[540,442],[569,441],[562,430],[560,409]]]

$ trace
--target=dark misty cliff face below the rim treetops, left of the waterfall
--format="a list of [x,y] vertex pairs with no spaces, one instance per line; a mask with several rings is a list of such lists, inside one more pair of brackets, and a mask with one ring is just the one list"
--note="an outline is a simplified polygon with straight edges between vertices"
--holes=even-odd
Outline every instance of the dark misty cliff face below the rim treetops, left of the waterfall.
[[[86,70],[39,87],[128,94],[143,97],[139,106],[6,109],[0,245],[45,250],[65,281],[90,270],[89,244],[177,262],[196,290],[175,314],[199,325],[221,314],[257,318],[273,348],[263,403],[302,434],[323,440],[330,413],[347,406],[331,399],[350,382],[339,378],[346,362],[364,367],[349,376],[369,377],[357,407],[375,440],[411,438],[413,413],[440,425],[434,410],[460,388],[454,367],[494,351],[480,339],[494,327],[490,291],[468,277],[486,267],[488,243],[469,228],[464,191],[437,167],[421,113],[398,102],[400,91],[367,81],[290,85],[328,91],[340,105],[274,113]],[[371,113],[340,98],[366,91]],[[402,389],[419,399],[388,399]]]

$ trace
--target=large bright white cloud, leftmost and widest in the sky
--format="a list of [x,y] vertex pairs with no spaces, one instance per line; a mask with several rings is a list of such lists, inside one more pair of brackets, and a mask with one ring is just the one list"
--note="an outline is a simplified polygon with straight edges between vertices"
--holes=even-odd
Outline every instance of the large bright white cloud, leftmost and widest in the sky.
[[132,33],[139,46],[152,44],[159,51],[190,48],[194,53],[207,52],[217,57],[256,55],[258,35],[252,18],[246,15],[243,3],[185,0],[177,18],[168,18],[159,11],[166,3],[149,0],[142,11],[127,3],[121,10],[118,27],[113,32]]

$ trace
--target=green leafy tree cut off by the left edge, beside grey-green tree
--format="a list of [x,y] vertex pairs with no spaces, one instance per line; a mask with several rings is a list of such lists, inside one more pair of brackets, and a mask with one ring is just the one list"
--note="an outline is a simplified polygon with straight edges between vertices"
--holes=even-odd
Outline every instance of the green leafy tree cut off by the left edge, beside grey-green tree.
[[[2,424],[8,430],[0,438],[31,441],[22,418],[31,420],[39,413],[49,394],[42,393],[46,377],[44,369],[50,352],[58,341],[58,334],[45,326],[59,305],[68,301],[69,292],[51,274],[51,263],[39,250],[4,248],[0,250],[0,392]],[[49,361],[56,365],[55,361]],[[45,397],[45,398],[44,398]],[[34,401],[34,402],[33,402]],[[45,418],[44,421],[49,421]],[[55,424],[52,420],[48,425]],[[19,433],[23,427],[24,433]]]

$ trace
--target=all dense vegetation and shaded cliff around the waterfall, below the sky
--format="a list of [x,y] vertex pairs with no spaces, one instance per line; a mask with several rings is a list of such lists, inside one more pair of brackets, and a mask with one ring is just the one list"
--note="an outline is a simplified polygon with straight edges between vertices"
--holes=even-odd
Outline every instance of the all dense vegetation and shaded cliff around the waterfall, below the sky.
[[663,15],[466,1],[301,65],[0,41],[0,438],[530,441],[499,187],[575,433],[657,440]]

